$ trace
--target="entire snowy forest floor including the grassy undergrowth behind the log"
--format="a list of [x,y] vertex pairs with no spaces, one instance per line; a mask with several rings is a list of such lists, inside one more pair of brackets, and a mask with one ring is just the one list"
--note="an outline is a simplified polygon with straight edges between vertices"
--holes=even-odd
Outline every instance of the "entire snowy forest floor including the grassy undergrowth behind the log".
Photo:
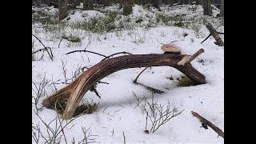
[[[204,26],[206,21],[219,32],[224,31],[224,20],[216,18],[218,9],[214,10],[214,16],[208,17],[202,15],[202,6],[162,6],[162,11],[158,11],[135,5],[133,14],[123,16],[118,6],[108,6],[97,10],[70,10],[62,22],[58,22],[58,10],[53,7],[32,9],[35,11],[33,34],[49,46],[53,54],[53,59],[44,50],[32,54],[34,143],[124,143],[124,138],[126,143],[224,142],[214,130],[201,127],[191,114],[191,111],[201,114],[224,131],[224,47],[216,46],[212,37],[200,43],[209,34]],[[44,48],[34,36],[32,53]],[[223,35],[221,37],[224,40]],[[42,107],[47,95],[72,82],[85,66],[93,66],[103,58],[84,52],[66,53],[86,49],[104,55],[123,51],[162,54],[160,47],[170,42],[180,47],[182,54],[194,54],[200,48],[205,50],[191,64],[206,76],[206,84],[183,86],[184,74],[180,71],[168,66],[151,67],[138,82],[164,91],[154,94],[133,83],[143,69],[133,68],[103,78],[102,82],[109,84],[97,85],[101,98],[92,91],[86,93],[83,102],[90,106],[97,104],[92,114],[80,114],[66,121],[59,118],[56,111]],[[152,114],[150,106],[162,111],[175,108],[175,114],[182,113],[154,133],[146,134],[144,130],[153,126],[150,119],[146,126],[146,111]]]

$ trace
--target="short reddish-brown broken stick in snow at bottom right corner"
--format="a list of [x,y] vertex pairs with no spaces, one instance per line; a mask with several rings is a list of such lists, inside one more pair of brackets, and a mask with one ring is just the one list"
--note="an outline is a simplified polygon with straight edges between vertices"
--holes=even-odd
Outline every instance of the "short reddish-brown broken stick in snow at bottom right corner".
[[221,129],[219,129],[217,126],[214,126],[214,124],[212,124],[211,122],[206,120],[206,118],[202,118],[201,115],[199,115],[198,113],[196,113],[194,111],[191,111],[191,114],[194,117],[198,118],[200,122],[202,122],[203,127],[210,126],[210,128],[212,128],[219,136],[224,138],[224,132]]

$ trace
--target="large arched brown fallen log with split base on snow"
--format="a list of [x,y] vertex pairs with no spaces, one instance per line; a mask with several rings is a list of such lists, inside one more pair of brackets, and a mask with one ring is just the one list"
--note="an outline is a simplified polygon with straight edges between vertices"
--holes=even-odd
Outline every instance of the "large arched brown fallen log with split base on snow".
[[105,78],[107,75],[112,74],[118,70],[124,70],[135,67],[148,67],[148,66],[172,66],[186,74],[191,80],[197,84],[206,83],[203,74],[195,70],[190,62],[184,65],[179,65],[178,62],[182,61],[186,54],[131,54],[120,56],[116,58],[109,58],[98,64],[90,67],[82,73],[74,82],[58,90],[55,94],[50,95],[42,102],[43,106],[52,108],[56,102],[65,103],[65,111],[62,118],[69,119],[74,115],[75,110],[81,102],[82,97],[90,90],[96,82]]

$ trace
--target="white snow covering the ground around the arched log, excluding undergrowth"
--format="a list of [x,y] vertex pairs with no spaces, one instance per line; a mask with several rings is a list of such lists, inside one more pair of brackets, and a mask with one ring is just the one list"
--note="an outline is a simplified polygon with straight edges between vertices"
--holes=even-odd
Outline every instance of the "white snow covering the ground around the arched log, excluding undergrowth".
[[[202,17],[202,7],[193,12],[188,10],[190,6],[176,6],[165,8],[162,14],[186,14],[187,17]],[[107,7],[106,10],[109,10]],[[111,10],[111,9],[110,9]],[[175,13],[174,13],[175,12]],[[52,8],[52,13],[54,10]],[[141,6],[134,6],[134,14],[130,15],[131,22],[138,20],[138,17],[145,20],[145,23],[150,21],[146,19],[145,14],[154,17],[154,10],[144,10]],[[216,15],[216,11],[214,14]],[[79,21],[79,19],[88,18],[94,15],[104,16],[99,11],[74,11],[70,14],[70,18],[66,19],[68,22]],[[219,22],[217,18],[209,18],[211,22]],[[152,19],[151,19],[152,20]],[[142,22],[143,23],[143,22]],[[214,26],[216,23],[212,23]],[[134,23],[134,25],[136,22]],[[219,26],[219,31],[224,30],[224,26]],[[59,31],[58,31],[59,32]],[[109,84],[98,84],[97,90],[102,98],[98,98],[94,92],[88,91],[84,98],[89,101],[99,102],[98,110],[93,114],[83,114],[74,118],[62,130],[59,130],[58,138],[61,137],[61,143],[78,143],[84,138],[83,128],[91,130],[88,141],[95,141],[96,143],[124,143],[124,136],[126,143],[223,143],[224,140],[218,137],[218,134],[212,129],[204,129],[197,118],[192,117],[191,111],[198,112],[204,118],[213,122],[224,131],[224,47],[216,46],[214,38],[209,38],[201,44],[202,40],[209,34],[205,26],[200,26],[197,33],[194,29],[187,29],[177,26],[164,26],[161,22],[158,26],[145,27],[135,26],[131,30],[110,31],[101,34],[90,33],[86,30],[72,29],[66,27],[61,33],[73,34],[81,38],[81,42],[68,42],[66,39],[53,37],[58,35],[55,31],[47,32],[46,29],[38,23],[33,23],[33,34],[36,35],[45,46],[50,46],[54,55],[51,61],[49,55],[45,52],[42,57],[42,52],[37,53],[32,61],[33,82],[35,86],[39,86],[40,82],[45,78],[49,82],[45,87],[46,94],[38,100],[38,107],[42,107],[42,99],[47,95],[52,94],[54,86],[57,89],[65,86],[62,82],[65,79],[72,78],[75,70],[84,66],[93,66],[100,62],[102,57],[90,53],[74,53],[66,54],[73,50],[90,50],[100,54],[110,55],[122,51],[131,54],[162,54],[160,46],[162,43],[169,43],[172,41],[182,49],[182,54],[194,54],[200,48],[205,52],[198,56],[191,64],[199,72],[206,76],[206,84],[198,86],[177,86],[177,78],[181,78],[184,74],[178,70],[167,67],[152,67],[147,69],[138,82],[145,85],[152,86],[158,90],[162,90],[163,94],[154,94],[154,101],[162,106],[174,106],[181,110],[181,114],[170,119],[161,126],[156,132],[145,134],[146,113],[143,112],[137,105],[138,98],[146,98],[148,102],[152,101],[152,92],[146,90],[142,86],[133,83],[134,78],[142,70],[142,68],[120,70],[114,74],[110,74],[102,79],[102,82]],[[184,37],[184,34],[188,34]],[[34,37],[34,51],[42,49],[42,44]],[[42,57],[42,59],[40,59]],[[203,61],[202,61],[203,60]],[[63,68],[64,66],[64,68]],[[66,75],[65,71],[66,69]],[[170,77],[174,80],[170,80]],[[53,84],[53,82],[58,84]],[[70,81],[68,81],[70,82]],[[35,86],[32,84],[33,89]],[[32,95],[36,94],[32,90]],[[42,107],[35,113],[36,107],[34,98],[32,99],[32,114],[33,126],[39,127],[41,133],[38,143],[45,143],[48,134],[52,136],[50,129],[56,130],[55,126],[59,126],[58,121],[53,121],[58,118],[54,110]],[[170,102],[168,104],[168,102]],[[40,119],[41,118],[41,119]],[[53,122],[52,122],[53,121]],[[62,120],[61,120],[62,121]],[[50,123],[50,128],[46,128]],[[62,123],[65,125],[66,121]],[[148,122],[148,129],[151,123]],[[33,129],[38,135],[38,130]],[[88,132],[88,131],[87,131]],[[88,134],[88,133],[87,133]],[[46,137],[42,138],[42,135]],[[65,140],[66,139],[66,140]],[[36,142],[34,142],[36,143]]]

